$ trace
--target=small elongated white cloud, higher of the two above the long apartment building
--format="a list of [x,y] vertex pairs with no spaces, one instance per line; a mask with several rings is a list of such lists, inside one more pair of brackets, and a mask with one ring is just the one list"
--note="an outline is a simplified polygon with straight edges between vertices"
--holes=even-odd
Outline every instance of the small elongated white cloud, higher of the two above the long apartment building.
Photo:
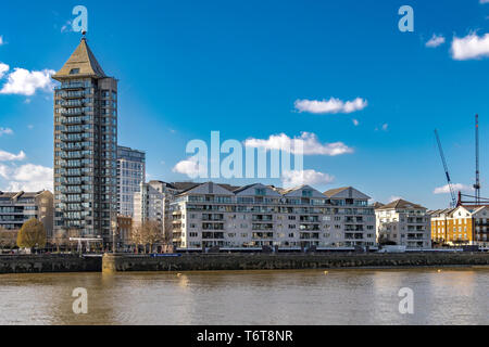
[[327,113],[352,113],[361,111],[367,106],[367,101],[356,98],[353,101],[342,101],[336,98],[329,100],[297,100],[294,102],[296,110],[299,112],[308,112],[314,114]]

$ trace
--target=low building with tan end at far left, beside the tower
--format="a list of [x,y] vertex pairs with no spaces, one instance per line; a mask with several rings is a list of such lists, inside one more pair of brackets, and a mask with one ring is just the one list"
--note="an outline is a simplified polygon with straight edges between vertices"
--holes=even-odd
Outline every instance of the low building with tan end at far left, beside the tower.
[[30,218],[36,218],[45,224],[49,241],[53,229],[51,192],[0,192],[0,232],[2,230],[18,231]]

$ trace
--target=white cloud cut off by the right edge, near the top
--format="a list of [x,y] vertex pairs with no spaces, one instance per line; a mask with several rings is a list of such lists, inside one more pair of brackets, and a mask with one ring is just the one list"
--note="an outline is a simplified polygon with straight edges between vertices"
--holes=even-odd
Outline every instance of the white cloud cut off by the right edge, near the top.
[[479,37],[473,33],[463,38],[454,37],[451,52],[456,61],[489,56],[489,34]]

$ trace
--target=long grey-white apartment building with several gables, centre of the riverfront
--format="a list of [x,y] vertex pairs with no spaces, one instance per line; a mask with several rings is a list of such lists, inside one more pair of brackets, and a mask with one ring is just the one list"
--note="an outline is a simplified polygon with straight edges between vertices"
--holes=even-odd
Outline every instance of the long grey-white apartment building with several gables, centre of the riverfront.
[[184,249],[372,246],[375,213],[368,198],[353,188],[321,193],[310,185],[206,182],[172,203],[173,242]]

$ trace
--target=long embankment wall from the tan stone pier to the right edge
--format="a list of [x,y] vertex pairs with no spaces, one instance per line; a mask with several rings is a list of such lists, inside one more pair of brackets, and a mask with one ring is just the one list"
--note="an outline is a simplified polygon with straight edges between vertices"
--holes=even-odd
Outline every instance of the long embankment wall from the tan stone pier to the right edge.
[[286,270],[362,267],[489,266],[489,254],[216,254],[103,256],[102,271]]

